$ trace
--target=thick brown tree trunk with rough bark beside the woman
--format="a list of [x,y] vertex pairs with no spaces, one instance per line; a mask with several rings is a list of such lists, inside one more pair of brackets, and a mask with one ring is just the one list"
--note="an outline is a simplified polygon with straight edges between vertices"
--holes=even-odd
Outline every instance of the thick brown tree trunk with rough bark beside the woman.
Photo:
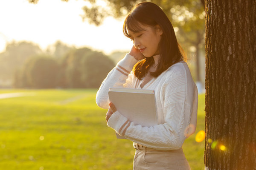
[[256,170],[256,1],[205,0],[206,170]]

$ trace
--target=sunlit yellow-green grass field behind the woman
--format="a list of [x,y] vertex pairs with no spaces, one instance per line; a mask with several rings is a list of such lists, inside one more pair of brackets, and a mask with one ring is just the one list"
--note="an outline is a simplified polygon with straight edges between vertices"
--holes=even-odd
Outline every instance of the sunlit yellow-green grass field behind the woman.
[[[0,99],[0,170],[131,170],[132,142],[116,139],[95,89],[0,90],[26,96]],[[204,94],[198,126],[204,130]],[[196,134],[195,133],[195,134]],[[204,141],[195,134],[183,151],[192,170],[204,170]]]

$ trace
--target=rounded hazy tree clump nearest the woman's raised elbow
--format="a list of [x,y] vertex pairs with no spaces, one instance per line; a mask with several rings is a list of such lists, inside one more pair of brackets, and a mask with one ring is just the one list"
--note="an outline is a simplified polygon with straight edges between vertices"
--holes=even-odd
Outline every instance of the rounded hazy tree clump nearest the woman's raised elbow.
[[69,88],[99,88],[114,66],[102,52],[79,48],[70,51],[61,62],[61,81]]

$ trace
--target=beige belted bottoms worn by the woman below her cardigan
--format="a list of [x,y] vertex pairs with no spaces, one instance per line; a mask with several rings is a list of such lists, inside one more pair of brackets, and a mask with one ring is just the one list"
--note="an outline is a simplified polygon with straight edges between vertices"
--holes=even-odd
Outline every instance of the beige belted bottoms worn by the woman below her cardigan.
[[133,170],[191,170],[182,148],[155,150],[134,143]]

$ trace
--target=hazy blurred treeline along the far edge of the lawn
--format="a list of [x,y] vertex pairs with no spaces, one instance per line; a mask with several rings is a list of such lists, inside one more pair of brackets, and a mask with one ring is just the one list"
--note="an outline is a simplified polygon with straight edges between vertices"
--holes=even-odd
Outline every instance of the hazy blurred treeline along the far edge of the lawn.
[[0,53],[0,88],[99,88],[115,62],[99,51],[57,41],[46,51],[11,42]]

